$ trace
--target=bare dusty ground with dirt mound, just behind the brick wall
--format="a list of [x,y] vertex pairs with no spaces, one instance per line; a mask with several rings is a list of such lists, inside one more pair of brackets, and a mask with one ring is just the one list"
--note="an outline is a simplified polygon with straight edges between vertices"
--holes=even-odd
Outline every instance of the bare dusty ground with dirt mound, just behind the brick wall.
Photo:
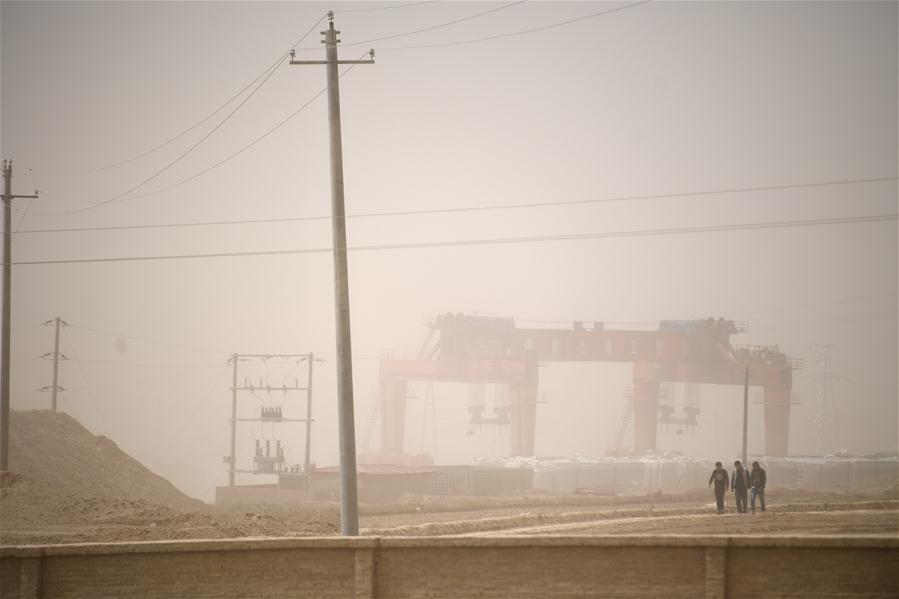
[[[337,534],[338,506],[222,510],[52,412],[14,412],[13,464],[0,478],[0,544]],[[41,448],[35,451],[35,448]],[[895,485],[866,492],[769,489],[769,509],[715,514],[711,492],[627,497],[406,497],[361,507],[362,534],[864,534],[899,536]]]

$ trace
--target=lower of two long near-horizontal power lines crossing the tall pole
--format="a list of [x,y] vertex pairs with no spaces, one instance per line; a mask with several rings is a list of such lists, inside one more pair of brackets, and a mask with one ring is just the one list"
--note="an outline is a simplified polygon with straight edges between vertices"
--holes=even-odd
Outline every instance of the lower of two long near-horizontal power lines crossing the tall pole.
[[[794,227],[812,227],[837,224],[860,224],[895,221],[899,214],[875,214],[870,216],[851,216],[841,218],[818,218],[809,220],[775,221],[763,223],[743,223],[731,225],[709,225],[698,227],[680,227],[668,229],[639,229],[632,231],[609,231],[599,233],[574,233],[568,235],[537,235],[529,237],[506,237],[492,239],[466,239],[460,241],[431,241],[421,243],[393,243],[383,245],[363,245],[348,247],[347,251],[365,252],[403,249],[431,249],[441,247],[473,247],[486,245],[511,245],[520,243],[540,243],[549,241],[581,241],[589,239],[612,239],[624,237],[649,237],[657,235],[683,235],[696,233],[719,233],[726,231],[745,231],[759,229],[782,229]],[[154,256],[130,256],[110,258],[80,258],[67,260],[33,260],[13,262],[15,266],[36,266],[49,264],[87,264],[99,262],[142,262],[151,260],[185,260],[198,258],[237,258],[248,256],[279,256],[296,254],[331,253],[332,248],[302,248],[293,250],[260,250],[250,252],[217,252],[206,254],[170,254]]]

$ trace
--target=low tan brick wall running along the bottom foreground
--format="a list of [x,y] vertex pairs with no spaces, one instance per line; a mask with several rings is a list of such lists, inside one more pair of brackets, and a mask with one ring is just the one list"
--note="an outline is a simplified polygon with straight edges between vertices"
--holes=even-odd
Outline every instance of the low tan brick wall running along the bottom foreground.
[[0,597],[899,598],[899,539],[307,538],[0,548]]

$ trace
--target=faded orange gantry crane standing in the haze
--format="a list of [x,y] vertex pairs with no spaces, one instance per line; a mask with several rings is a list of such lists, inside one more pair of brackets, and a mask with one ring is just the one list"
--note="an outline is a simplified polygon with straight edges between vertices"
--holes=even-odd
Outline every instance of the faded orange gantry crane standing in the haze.
[[[611,330],[601,322],[571,328],[519,328],[512,318],[445,314],[432,324],[418,358],[380,360],[381,454],[404,454],[410,381],[493,383],[511,392],[510,455],[534,455],[538,368],[550,362],[633,363],[634,451],[656,449],[659,385],[743,385],[764,390],[765,454],[786,456],[793,370],[777,346],[734,346],[724,318],[661,321],[657,330]],[[695,418],[695,413],[688,414]],[[494,419],[497,420],[497,419]]]

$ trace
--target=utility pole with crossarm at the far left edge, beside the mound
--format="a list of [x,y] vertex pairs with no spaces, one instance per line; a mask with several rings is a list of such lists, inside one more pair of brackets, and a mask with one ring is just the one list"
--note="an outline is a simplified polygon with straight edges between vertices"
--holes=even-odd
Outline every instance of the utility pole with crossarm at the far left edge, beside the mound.
[[3,161],[3,322],[0,331],[0,470],[9,470],[9,317],[12,313],[12,160]]

